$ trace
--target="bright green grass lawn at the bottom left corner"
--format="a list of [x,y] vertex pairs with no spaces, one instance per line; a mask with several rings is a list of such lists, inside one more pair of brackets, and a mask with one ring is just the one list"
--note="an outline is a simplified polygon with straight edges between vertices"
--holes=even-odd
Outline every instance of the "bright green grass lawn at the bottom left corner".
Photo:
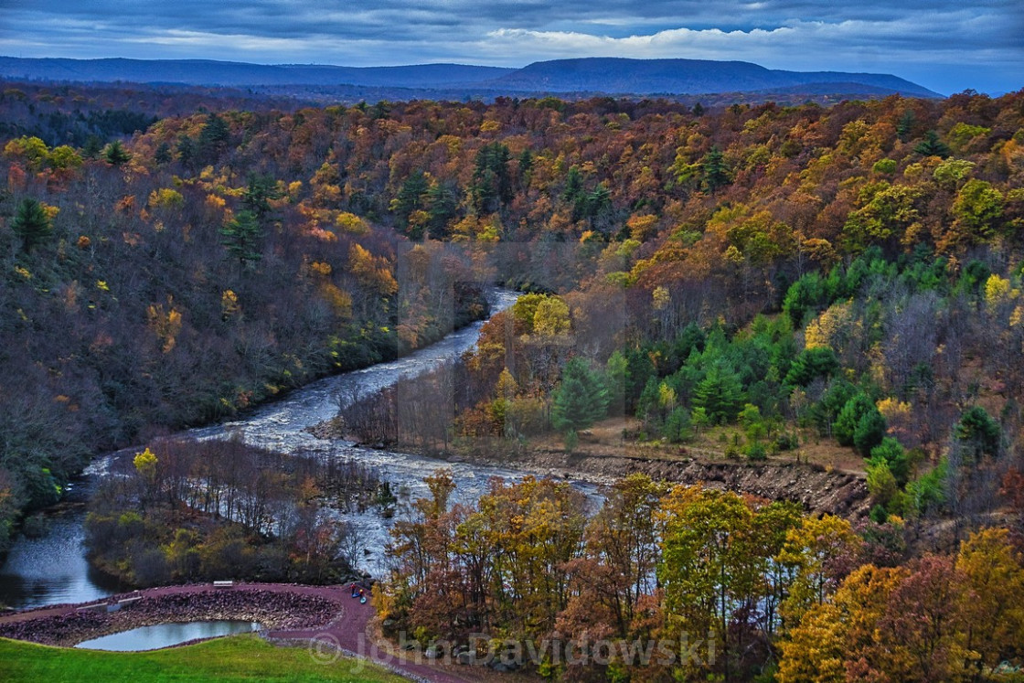
[[318,664],[305,647],[275,647],[244,635],[150,652],[77,650],[0,638],[0,681],[399,683],[406,679],[354,659]]

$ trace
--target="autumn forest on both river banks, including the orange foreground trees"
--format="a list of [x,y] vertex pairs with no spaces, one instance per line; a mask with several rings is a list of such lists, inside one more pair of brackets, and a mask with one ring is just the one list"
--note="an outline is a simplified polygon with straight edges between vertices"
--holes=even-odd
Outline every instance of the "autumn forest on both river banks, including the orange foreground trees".
[[[78,95],[22,96],[74,111]],[[595,421],[635,416],[624,442],[716,434],[723,458],[759,461],[813,434],[865,473],[871,520],[637,479],[599,513],[551,481],[449,510],[440,475],[397,527],[378,597],[396,624],[629,639],[710,620],[724,658],[676,673],[726,679],[779,652],[794,681],[978,678],[1020,655],[1020,592],[972,596],[1024,575],[1024,93],[216,108],[130,137],[94,128],[99,145],[18,125],[0,202],[5,523],[97,449],[409,350],[483,314],[476,283],[498,281],[529,294],[456,369],[455,404],[417,414],[438,408],[435,378],[379,397],[413,416],[389,437],[511,453],[557,432],[571,451]],[[381,415],[345,417],[374,433]],[[645,545],[610,555],[651,512]],[[714,524],[724,537],[694,535]],[[1009,531],[976,532],[992,525]],[[924,550],[945,527],[963,545],[907,563],[904,529]],[[688,584],[708,557],[734,573]],[[1000,605],[1009,630],[972,639]],[[911,629],[922,641],[887,649]],[[833,677],[800,669],[819,651]]]

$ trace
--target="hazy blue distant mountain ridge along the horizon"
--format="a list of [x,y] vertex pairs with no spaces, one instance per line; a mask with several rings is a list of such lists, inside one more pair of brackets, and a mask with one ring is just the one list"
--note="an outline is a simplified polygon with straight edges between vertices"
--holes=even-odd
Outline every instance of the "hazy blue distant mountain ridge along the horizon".
[[[941,97],[891,74],[792,72],[749,61],[581,57],[536,61],[522,69],[431,63],[408,67],[255,65],[210,59],[68,59],[0,56],[0,78],[126,81],[204,86],[369,86],[467,88],[492,93],[593,92],[616,95],[755,92],[807,87],[816,92],[900,93]],[[852,87],[852,89],[851,89]]]

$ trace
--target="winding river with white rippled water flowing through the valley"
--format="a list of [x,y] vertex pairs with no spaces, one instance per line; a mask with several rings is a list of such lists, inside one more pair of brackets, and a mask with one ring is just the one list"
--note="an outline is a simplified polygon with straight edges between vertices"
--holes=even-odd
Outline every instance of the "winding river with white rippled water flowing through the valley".
[[[492,311],[508,308],[517,297],[515,292],[508,290],[492,291],[488,294]],[[426,495],[424,476],[438,467],[446,467],[458,484],[452,502],[475,502],[484,493],[490,477],[518,480],[532,472],[471,463],[442,463],[409,454],[359,449],[346,441],[316,438],[306,429],[333,418],[338,411],[337,397],[349,395],[353,388],[366,395],[393,384],[402,376],[415,376],[458,357],[473,347],[482,325],[482,322],[474,323],[397,360],[313,382],[239,420],[188,430],[182,436],[224,438],[240,435],[250,443],[284,453],[304,451],[357,461],[376,467],[381,478],[390,482],[392,490],[406,490],[413,499]],[[94,477],[103,476],[113,457],[103,456],[92,463],[84,479],[76,485],[79,497],[87,495]],[[586,482],[574,482],[574,485],[590,498],[599,499],[597,486]],[[85,559],[84,514],[81,506],[65,509],[49,515],[49,528],[43,537],[27,539],[22,536],[15,540],[5,564],[0,567],[0,604],[29,608],[86,602],[118,592],[121,587],[91,570]],[[364,555],[358,568],[379,575],[385,568],[382,549],[392,520],[372,511],[339,516],[356,529],[362,542]]]

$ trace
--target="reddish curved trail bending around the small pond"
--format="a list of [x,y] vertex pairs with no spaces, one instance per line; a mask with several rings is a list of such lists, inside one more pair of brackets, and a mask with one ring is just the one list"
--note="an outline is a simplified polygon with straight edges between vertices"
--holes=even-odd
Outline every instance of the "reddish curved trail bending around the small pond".
[[[419,681],[430,683],[467,683],[474,679],[464,678],[430,664],[428,660],[409,661],[396,656],[391,648],[383,648],[375,641],[371,633],[373,607],[359,604],[351,598],[347,586],[294,586],[290,584],[248,584],[236,583],[232,588],[215,588],[213,584],[196,584],[190,586],[166,586],[151,588],[131,593],[124,593],[110,598],[80,604],[49,605],[30,609],[13,614],[0,616],[0,625],[28,622],[45,616],[59,616],[76,612],[87,605],[108,604],[128,598],[146,597],[159,598],[170,595],[200,594],[214,591],[232,591],[239,589],[260,590],[270,593],[292,593],[325,598],[341,605],[338,614],[327,625],[309,629],[271,630],[263,632],[263,637],[271,641],[305,641],[310,647],[310,656],[329,663],[331,657],[325,649],[338,649],[345,654],[354,654],[360,658],[384,666],[394,673]],[[315,651],[314,651],[315,650]]]

